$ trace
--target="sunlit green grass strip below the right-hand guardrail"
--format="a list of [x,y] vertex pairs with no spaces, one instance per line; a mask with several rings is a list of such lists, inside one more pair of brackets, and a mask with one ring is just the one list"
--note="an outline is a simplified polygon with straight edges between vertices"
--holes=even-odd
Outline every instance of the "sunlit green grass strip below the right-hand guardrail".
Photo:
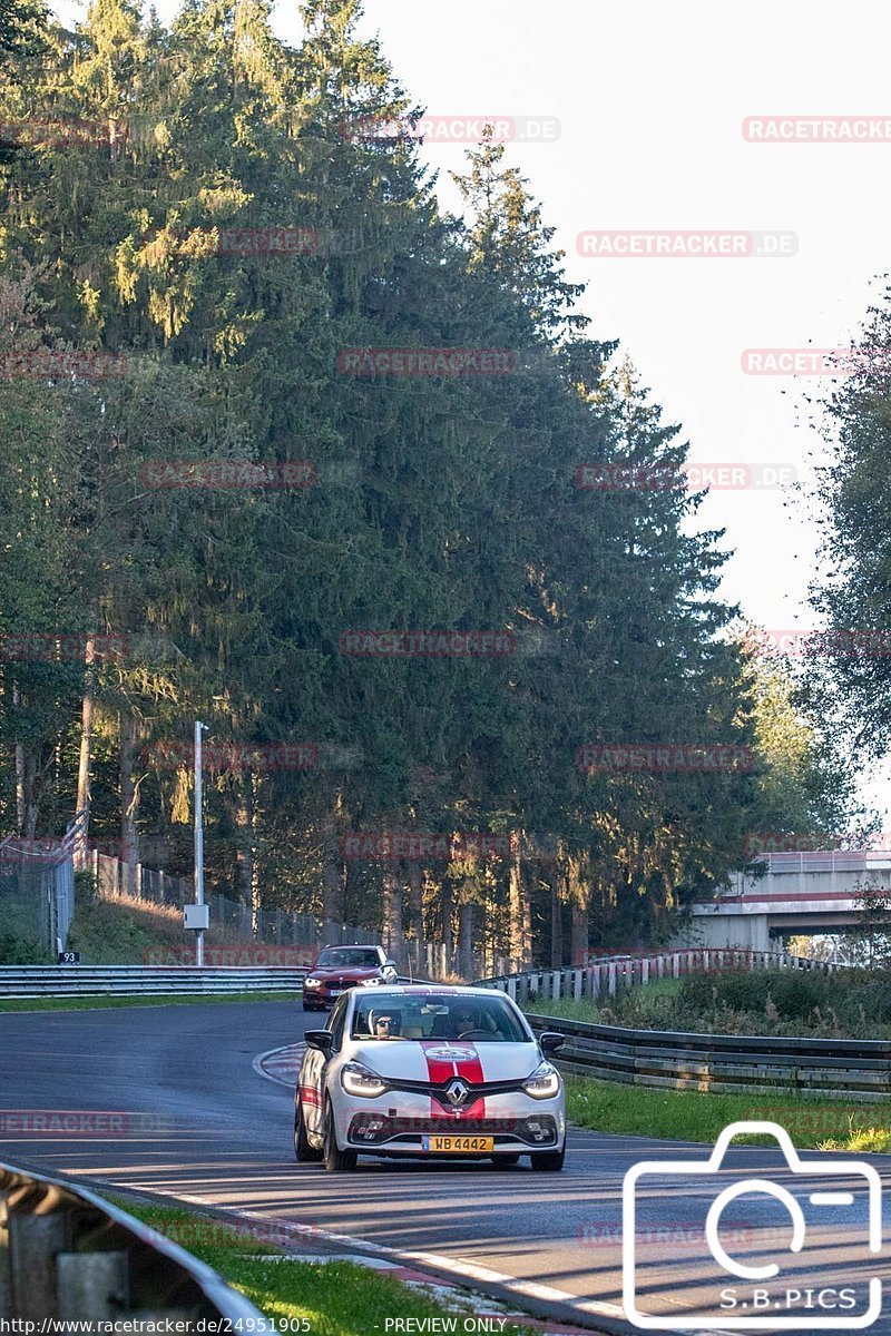
[[[729,1122],[776,1122],[801,1149],[891,1150],[891,1104],[795,1094],[657,1090],[568,1075],[566,1114],[580,1128],[667,1141],[713,1142]],[[741,1138],[743,1140],[743,1138]],[[744,1138],[768,1144],[769,1137]]]

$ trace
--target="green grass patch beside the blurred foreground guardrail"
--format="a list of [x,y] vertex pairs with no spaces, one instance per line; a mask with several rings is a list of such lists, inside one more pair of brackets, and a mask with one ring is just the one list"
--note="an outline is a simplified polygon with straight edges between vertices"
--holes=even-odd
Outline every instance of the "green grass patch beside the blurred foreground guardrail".
[[[374,1332],[382,1336],[387,1317],[454,1317],[454,1311],[423,1292],[357,1263],[260,1261],[251,1255],[282,1253],[281,1248],[269,1242],[270,1233],[260,1221],[251,1226],[256,1230],[251,1237],[244,1226],[231,1228],[188,1210],[134,1206],[126,1200],[119,1200],[119,1204],[131,1216],[212,1267],[266,1317],[279,1323],[282,1319],[303,1319],[305,1329],[313,1336],[371,1336]],[[477,1313],[490,1313],[496,1307],[488,1299],[472,1303]],[[461,1311],[470,1315],[474,1308]],[[506,1323],[504,1331],[512,1336],[525,1328]]]

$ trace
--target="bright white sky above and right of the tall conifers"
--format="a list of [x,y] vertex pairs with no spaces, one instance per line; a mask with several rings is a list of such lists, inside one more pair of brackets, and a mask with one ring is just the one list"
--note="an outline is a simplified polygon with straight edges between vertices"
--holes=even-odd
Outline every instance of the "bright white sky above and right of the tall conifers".
[[[170,20],[175,5],[159,0]],[[64,17],[79,9],[59,5]],[[277,31],[299,40],[293,3]],[[546,144],[510,144],[546,222],[586,281],[593,337],[622,341],[683,426],[693,461],[781,462],[807,478],[818,444],[800,425],[816,379],[747,377],[747,347],[844,346],[891,255],[891,142],[756,144],[752,115],[887,115],[891,9],[847,0],[366,0],[406,91],[430,114],[556,116]],[[456,206],[454,147],[425,147]],[[299,220],[298,220],[299,222]],[[785,230],[783,259],[582,258],[601,228]],[[789,500],[788,497],[785,498]],[[724,593],[768,628],[807,628],[814,526],[773,492],[716,492],[703,510],[735,549]],[[870,796],[891,808],[884,774]],[[891,828],[886,823],[886,828]]]

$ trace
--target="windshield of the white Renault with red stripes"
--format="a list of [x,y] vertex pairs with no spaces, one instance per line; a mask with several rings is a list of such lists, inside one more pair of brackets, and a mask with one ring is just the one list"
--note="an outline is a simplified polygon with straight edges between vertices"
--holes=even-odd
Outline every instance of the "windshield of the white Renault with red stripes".
[[[363,990],[365,991],[365,990]],[[492,997],[429,994],[425,997],[357,998],[354,1039],[474,1039],[485,1043],[530,1043],[510,1006]]]

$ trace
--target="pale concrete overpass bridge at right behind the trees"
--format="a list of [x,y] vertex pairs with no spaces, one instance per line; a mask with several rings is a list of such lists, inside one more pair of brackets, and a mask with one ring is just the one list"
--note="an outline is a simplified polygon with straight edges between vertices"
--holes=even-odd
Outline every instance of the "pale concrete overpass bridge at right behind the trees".
[[862,910],[858,892],[883,887],[891,895],[891,852],[827,850],[765,854],[761,878],[733,874],[719,898],[693,904],[689,927],[676,946],[776,950],[789,937],[844,933]]

